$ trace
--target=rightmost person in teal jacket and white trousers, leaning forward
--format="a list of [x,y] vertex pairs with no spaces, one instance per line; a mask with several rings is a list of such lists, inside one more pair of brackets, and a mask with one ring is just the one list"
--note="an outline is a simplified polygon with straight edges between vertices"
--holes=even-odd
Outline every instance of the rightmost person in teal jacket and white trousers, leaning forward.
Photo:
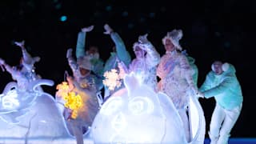
[[214,97],[216,101],[210,122],[210,143],[228,143],[242,109],[242,90],[233,65],[215,61],[211,68],[199,89],[205,98]]

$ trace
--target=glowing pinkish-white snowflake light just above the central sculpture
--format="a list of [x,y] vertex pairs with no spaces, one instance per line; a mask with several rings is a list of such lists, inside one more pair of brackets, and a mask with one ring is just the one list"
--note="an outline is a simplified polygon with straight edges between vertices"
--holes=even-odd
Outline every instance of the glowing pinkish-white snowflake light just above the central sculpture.
[[107,86],[110,90],[114,90],[115,87],[119,87],[122,84],[122,78],[118,74],[118,70],[111,69],[110,71],[106,71],[104,73],[104,77],[106,79],[103,80],[103,84]]

